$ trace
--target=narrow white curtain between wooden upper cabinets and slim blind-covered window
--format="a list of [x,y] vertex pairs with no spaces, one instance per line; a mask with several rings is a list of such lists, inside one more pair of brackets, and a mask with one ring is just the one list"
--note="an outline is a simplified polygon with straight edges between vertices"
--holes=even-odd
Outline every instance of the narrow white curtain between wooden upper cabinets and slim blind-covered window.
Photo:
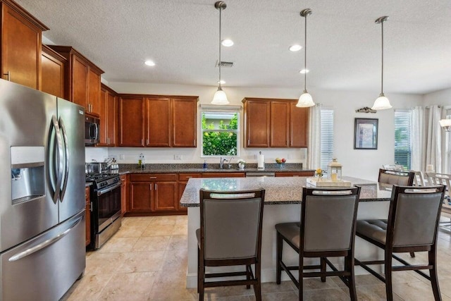
[[310,107],[309,148],[307,150],[307,168],[321,166],[321,104]]

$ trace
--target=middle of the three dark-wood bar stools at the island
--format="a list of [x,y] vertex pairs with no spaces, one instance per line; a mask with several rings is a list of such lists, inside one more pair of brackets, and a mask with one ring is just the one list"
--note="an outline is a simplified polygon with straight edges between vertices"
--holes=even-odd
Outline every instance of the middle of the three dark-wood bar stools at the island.
[[[276,283],[280,284],[282,270],[299,289],[303,299],[303,278],[339,276],[350,290],[351,300],[357,300],[354,279],[354,239],[360,188],[302,188],[300,222],[278,223]],[[283,262],[283,242],[299,254],[297,266]],[[319,264],[304,265],[304,258],[319,258]],[[328,257],[344,257],[345,265],[338,270]],[[331,271],[327,271],[327,266]],[[306,272],[316,269],[319,271]],[[291,273],[299,271],[298,279]]]

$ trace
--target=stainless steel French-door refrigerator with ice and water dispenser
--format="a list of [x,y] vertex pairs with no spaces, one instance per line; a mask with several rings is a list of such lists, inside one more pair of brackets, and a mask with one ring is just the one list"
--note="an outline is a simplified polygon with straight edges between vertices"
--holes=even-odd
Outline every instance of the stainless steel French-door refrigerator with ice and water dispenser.
[[0,80],[1,300],[58,300],[85,271],[84,114]]

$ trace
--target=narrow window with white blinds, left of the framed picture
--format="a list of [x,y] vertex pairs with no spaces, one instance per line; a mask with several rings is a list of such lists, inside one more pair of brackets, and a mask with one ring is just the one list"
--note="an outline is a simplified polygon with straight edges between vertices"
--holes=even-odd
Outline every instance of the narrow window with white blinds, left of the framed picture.
[[333,109],[321,109],[321,169],[333,158]]

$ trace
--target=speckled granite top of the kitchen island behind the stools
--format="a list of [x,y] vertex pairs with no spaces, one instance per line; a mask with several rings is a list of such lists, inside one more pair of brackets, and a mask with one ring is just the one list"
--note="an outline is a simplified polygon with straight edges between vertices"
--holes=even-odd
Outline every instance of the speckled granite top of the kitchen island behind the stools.
[[[265,204],[299,204],[308,177],[190,178],[180,199],[182,207],[199,207],[199,190],[235,191],[264,188]],[[343,177],[362,187],[360,201],[390,201],[391,185]]]

